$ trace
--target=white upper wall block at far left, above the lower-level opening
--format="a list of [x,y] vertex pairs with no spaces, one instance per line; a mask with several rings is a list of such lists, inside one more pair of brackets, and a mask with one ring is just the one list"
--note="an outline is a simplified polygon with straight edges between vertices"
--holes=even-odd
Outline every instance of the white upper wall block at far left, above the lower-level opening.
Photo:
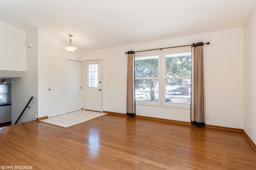
[[0,72],[1,70],[25,71],[26,33],[3,21],[0,21],[0,32]]

